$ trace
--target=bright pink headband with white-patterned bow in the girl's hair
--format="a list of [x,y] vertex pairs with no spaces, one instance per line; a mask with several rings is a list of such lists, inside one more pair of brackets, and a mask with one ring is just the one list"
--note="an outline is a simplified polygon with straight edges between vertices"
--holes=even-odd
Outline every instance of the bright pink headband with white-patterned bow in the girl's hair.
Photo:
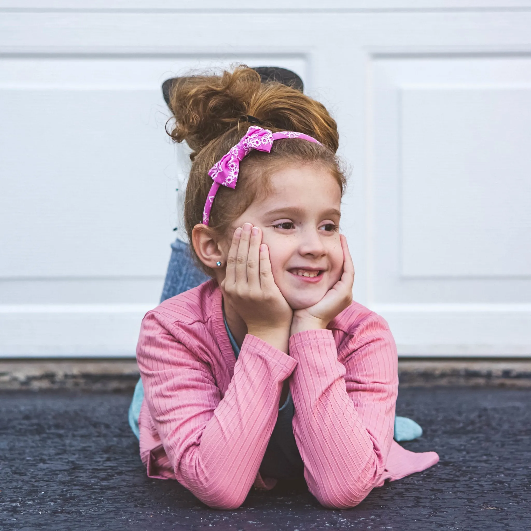
[[236,181],[238,180],[239,163],[246,155],[249,155],[251,150],[271,152],[273,140],[280,140],[284,138],[301,138],[309,142],[321,145],[321,142],[304,133],[296,133],[295,131],[280,131],[278,133],[271,133],[269,129],[262,129],[258,125],[251,125],[242,140],[240,140],[230,151],[221,157],[221,160],[213,165],[208,174],[213,179],[212,187],[207,196],[207,202],[203,209],[203,224],[208,225],[210,219],[210,211],[212,210],[212,203],[216,197],[216,193],[220,186],[227,186],[234,189]]

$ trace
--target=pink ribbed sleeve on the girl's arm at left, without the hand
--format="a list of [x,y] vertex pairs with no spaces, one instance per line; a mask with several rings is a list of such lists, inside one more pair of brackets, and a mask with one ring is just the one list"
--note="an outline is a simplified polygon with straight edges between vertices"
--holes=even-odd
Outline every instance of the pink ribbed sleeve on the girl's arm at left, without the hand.
[[221,398],[200,342],[153,313],[142,322],[137,359],[177,481],[210,507],[240,506],[275,426],[282,382],[297,362],[247,335]]

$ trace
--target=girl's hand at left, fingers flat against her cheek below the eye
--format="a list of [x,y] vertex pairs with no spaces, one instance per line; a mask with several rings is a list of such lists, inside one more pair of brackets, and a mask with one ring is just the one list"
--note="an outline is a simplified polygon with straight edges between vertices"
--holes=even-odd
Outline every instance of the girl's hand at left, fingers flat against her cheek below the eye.
[[293,310],[275,284],[261,241],[260,228],[250,223],[235,230],[221,282],[224,304],[242,318],[247,333],[287,353]]

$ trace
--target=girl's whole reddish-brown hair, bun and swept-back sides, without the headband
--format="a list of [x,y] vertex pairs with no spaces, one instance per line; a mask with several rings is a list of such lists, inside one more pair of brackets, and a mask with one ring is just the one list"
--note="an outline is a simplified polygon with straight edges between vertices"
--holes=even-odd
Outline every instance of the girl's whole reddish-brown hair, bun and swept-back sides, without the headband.
[[[179,78],[170,91],[175,123],[169,135],[193,150],[186,187],[184,221],[192,241],[192,229],[201,223],[203,207],[212,185],[210,168],[242,139],[249,129],[247,116],[258,118],[261,127],[297,131],[313,136],[322,145],[301,139],[273,142],[271,153],[252,150],[241,162],[234,190],[221,186],[210,212],[209,227],[226,234],[258,198],[270,190],[269,177],[287,163],[321,164],[330,170],[343,193],[345,176],[336,151],[339,135],[335,120],[322,104],[278,82],[261,83],[260,74],[244,65],[221,75]],[[195,255],[195,251],[194,251]],[[213,271],[194,257],[210,276]]]

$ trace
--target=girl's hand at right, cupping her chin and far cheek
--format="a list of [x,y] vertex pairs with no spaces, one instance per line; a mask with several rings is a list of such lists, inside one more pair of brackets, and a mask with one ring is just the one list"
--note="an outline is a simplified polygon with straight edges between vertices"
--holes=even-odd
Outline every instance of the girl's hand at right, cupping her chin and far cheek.
[[347,238],[340,234],[343,250],[343,273],[341,278],[313,306],[296,310],[293,313],[290,335],[304,330],[325,329],[328,323],[352,302],[352,285],[354,284],[354,264],[348,251]]

